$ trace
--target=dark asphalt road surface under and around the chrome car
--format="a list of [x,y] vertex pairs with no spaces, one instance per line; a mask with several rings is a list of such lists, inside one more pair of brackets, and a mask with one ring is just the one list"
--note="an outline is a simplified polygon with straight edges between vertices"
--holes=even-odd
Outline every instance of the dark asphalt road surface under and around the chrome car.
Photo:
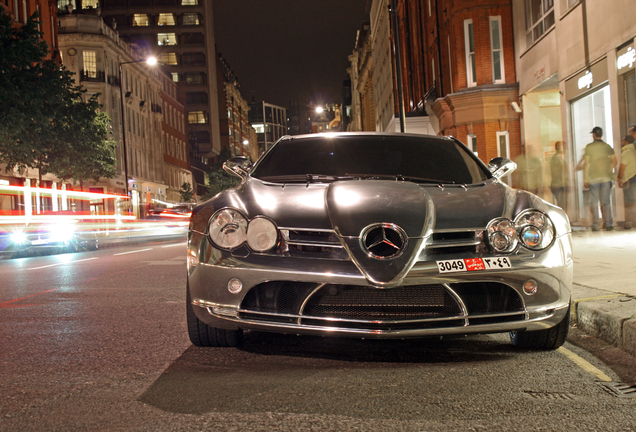
[[185,249],[0,261],[0,431],[636,430],[636,399],[602,384],[634,368],[576,331],[552,352],[507,335],[194,347]]

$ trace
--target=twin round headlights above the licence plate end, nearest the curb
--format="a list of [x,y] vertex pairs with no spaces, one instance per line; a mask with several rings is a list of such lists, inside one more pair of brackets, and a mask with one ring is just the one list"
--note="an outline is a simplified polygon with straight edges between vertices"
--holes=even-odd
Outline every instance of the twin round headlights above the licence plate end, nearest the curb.
[[552,221],[542,211],[526,210],[514,221],[496,218],[486,228],[488,243],[496,252],[512,252],[521,243],[530,250],[542,250],[554,240]]

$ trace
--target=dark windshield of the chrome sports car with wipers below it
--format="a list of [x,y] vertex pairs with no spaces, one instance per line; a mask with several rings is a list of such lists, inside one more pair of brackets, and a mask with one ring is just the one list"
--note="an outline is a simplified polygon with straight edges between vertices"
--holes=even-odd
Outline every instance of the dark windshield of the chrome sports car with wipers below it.
[[252,177],[270,182],[403,179],[472,184],[490,177],[464,146],[434,137],[350,135],[285,139],[255,166]]

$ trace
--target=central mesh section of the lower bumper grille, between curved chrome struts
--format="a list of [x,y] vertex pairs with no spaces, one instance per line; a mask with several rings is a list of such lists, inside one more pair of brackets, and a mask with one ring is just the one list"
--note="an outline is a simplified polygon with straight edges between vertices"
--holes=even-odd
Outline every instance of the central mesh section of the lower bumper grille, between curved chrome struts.
[[305,316],[348,319],[415,319],[461,315],[441,285],[377,289],[327,285],[309,300]]

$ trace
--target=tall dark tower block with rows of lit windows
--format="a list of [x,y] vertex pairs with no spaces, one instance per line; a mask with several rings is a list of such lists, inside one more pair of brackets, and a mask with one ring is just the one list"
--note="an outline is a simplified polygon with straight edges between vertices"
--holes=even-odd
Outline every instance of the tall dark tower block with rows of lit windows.
[[121,37],[166,65],[186,106],[191,151],[221,151],[212,2],[101,0],[101,13]]

